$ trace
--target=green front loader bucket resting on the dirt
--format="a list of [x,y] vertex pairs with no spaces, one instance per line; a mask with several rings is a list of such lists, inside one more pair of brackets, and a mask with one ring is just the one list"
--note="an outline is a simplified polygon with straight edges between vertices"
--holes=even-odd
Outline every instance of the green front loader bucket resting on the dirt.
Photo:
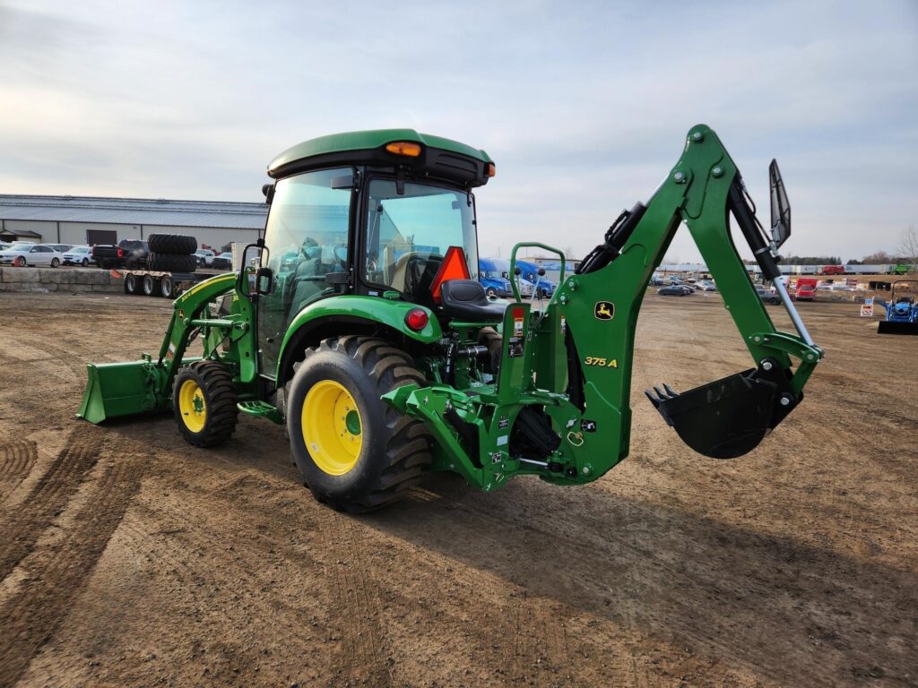
[[77,417],[90,423],[106,418],[132,416],[157,406],[156,366],[150,361],[88,363],[89,380]]

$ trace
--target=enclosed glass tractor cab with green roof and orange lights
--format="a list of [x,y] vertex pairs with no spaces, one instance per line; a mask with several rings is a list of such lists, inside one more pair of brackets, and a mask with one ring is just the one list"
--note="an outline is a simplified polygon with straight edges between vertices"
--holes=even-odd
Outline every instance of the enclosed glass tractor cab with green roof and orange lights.
[[[267,284],[258,305],[263,374],[274,372],[297,314],[321,299],[385,297],[437,312],[443,282],[476,280],[472,190],[494,175],[483,150],[411,129],[353,132],[294,146],[268,174]],[[465,312],[487,305],[484,293],[471,297],[470,289],[458,290]]]

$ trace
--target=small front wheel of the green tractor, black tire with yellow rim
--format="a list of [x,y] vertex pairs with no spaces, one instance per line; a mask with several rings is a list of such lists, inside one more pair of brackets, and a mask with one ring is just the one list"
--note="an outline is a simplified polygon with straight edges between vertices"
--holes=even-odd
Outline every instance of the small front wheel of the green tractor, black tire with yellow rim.
[[175,422],[185,441],[213,447],[229,439],[239,420],[232,375],[217,361],[196,361],[175,376]]

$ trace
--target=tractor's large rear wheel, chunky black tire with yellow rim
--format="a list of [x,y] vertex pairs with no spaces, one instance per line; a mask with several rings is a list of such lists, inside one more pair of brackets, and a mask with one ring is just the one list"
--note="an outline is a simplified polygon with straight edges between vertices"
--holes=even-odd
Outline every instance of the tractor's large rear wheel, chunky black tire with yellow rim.
[[380,399],[425,383],[408,354],[383,339],[330,338],[295,368],[284,404],[290,453],[319,502],[371,511],[420,483],[430,436]]

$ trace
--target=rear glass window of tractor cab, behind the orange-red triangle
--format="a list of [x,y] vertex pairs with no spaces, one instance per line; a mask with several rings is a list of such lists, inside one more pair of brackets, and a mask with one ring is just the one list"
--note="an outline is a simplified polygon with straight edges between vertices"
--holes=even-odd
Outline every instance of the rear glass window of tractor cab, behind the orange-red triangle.
[[433,278],[451,246],[465,251],[469,275],[477,278],[475,204],[463,191],[392,180],[369,183],[363,256],[364,282],[430,300]]

